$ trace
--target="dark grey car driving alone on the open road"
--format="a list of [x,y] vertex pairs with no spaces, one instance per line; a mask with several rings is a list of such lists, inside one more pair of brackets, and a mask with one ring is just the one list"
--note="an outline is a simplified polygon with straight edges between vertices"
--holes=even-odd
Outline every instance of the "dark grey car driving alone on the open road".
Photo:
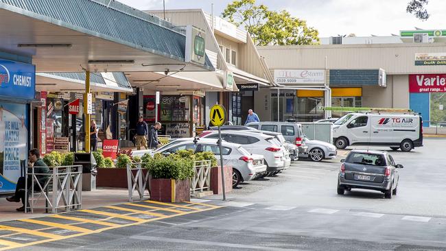
[[396,165],[387,152],[353,150],[341,162],[338,194],[351,189],[371,189],[381,191],[388,199],[397,195],[398,169],[403,166]]

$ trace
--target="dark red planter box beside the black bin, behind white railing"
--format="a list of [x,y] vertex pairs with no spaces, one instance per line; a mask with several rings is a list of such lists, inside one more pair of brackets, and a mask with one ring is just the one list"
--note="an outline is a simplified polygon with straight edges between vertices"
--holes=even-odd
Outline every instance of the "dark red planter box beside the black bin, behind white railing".
[[[143,174],[147,170],[143,169]],[[126,168],[97,168],[96,187],[128,188]]]

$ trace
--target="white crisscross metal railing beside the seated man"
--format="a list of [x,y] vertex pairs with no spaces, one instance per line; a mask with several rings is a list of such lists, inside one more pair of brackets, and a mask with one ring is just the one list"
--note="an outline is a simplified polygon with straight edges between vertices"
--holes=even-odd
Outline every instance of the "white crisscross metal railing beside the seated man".
[[[58,213],[60,208],[65,211],[82,208],[82,165],[49,167],[52,169],[49,174],[37,174],[34,168],[29,169],[30,173],[25,169],[25,195],[29,195],[29,205],[25,200],[25,213],[34,213],[37,208],[44,208],[47,213],[49,210]],[[45,184],[38,182],[42,177],[46,178]]]

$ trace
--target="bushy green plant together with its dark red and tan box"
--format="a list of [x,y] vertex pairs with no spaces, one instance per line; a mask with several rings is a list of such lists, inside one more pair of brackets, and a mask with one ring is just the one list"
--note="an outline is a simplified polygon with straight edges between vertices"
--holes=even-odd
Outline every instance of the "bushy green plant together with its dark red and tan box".
[[[181,154],[181,153],[180,153]],[[150,178],[150,200],[159,202],[189,202],[190,179],[194,175],[192,156],[183,158],[180,154],[169,156],[145,156]]]

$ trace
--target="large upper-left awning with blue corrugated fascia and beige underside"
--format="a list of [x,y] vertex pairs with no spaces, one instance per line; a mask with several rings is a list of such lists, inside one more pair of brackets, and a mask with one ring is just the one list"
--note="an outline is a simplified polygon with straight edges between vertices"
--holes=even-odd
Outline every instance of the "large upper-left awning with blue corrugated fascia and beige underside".
[[185,62],[185,30],[110,0],[0,0],[0,51],[37,72],[213,71]]

